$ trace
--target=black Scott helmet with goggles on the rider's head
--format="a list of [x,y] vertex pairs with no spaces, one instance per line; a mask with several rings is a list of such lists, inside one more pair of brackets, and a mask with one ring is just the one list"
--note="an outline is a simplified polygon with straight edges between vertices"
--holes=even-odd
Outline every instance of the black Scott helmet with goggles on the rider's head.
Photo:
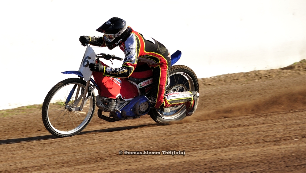
[[118,17],[111,18],[96,31],[104,33],[105,43],[109,49],[119,46],[131,32],[126,22]]

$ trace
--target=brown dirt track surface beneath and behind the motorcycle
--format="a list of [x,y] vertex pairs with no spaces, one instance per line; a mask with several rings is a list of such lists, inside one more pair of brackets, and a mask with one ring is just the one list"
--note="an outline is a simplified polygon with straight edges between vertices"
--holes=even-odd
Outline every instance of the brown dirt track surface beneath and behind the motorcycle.
[[196,113],[168,125],[95,115],[80,134],[55,138],[39,106],[2,110],[0,172],[306,172],[305,66],[199,79]]

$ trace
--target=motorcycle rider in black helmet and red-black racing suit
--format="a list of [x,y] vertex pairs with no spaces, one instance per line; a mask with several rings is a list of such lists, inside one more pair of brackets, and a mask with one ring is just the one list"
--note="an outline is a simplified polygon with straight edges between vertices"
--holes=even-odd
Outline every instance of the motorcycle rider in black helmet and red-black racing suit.
[[[102,32],[104,35],[102,37],[80,36],[80,42],[83,46],[85,43],[89,43],[93,46],[107,46],[110,50],[119,46],[125,54],[125,59],[121,68],[106,67],[101,63],[89,64],[91,71],[102,72],[103,76],[128,78],[136,66],[138,68],[140,63],[146,63],[153,72],[151,101],[155,108],[163,109],[185,103],[186,116],[190,116],[196,111],[197,104],[195,102],[199,97],[198,92],[165,94],[171,57],[164,45],[151,37],[134,31],[118,17],[106,21],[96,31]],[[95,77],[95,73],[93,76]]]

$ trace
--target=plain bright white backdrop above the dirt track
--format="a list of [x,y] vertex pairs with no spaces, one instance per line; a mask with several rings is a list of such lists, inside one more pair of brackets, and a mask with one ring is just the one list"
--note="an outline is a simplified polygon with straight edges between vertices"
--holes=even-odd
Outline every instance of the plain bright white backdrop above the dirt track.
[[[41,104],[59,81],[76,77],[81,35],[111,17],[182,51],[177,64],[198,78],[281,68],[306,59],[305,0],[0,0],[0,109]],[[119,48],[96,53],[124,57]],[[122,62],[114,63],[121,67]]]

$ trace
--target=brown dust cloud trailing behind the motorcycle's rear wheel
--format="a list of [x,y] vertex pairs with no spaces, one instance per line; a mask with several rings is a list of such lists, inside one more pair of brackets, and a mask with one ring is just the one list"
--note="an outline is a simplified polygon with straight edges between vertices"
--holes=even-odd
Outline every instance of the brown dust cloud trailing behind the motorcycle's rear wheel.
[[177,123],[188,123],[221,118],[232,118],[269,112],[282,112],[297,109],[306,109],[306,88],[298,87],[279,91],[269,97],[259,98],[255,101],[240,102],[227,105],[212,111],[197,112]]

